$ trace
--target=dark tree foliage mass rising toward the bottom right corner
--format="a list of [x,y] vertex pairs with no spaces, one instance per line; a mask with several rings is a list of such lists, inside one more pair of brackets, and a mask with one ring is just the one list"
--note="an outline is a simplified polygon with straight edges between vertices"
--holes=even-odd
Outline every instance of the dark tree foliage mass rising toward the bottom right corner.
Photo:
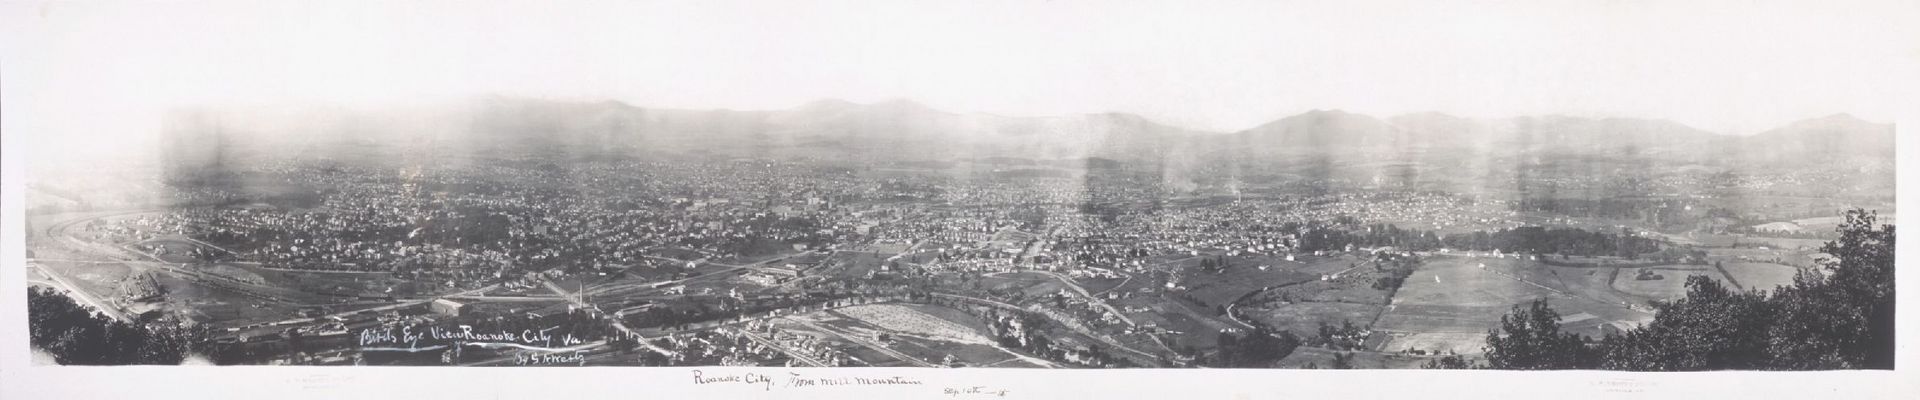
[[[1820,250],[1824,273],[1801,271],[1793,285],[1732,290],[1688,277],[1686,298],[1655,306],[1651,323],[1592,342],[1559,331],[1546,300],[1515,306],[1486,335],[1496,369],[1893,369],[1893,225],[1847,212],[1841,237]],[[1427,367],[1476,367],[1436,360]]]

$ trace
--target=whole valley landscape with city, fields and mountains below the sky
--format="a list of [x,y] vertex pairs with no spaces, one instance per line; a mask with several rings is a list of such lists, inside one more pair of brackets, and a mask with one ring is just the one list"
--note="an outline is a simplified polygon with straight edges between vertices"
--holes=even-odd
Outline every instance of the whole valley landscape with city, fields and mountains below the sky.
[[1891,369],[1893,127],[1845,113],[307,113],[33,169],[35,360]]

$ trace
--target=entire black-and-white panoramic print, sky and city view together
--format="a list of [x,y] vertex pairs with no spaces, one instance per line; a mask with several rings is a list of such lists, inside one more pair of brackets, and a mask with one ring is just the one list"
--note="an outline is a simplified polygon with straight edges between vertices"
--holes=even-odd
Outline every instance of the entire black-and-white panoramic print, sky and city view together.
[[[1822,58],[1859,48],[1027,6],[61,19],[12,90],[127,117],[23,133],[31,363],[1895,367],[1897,104]],[[117,31],[169,17],[207,25]]]

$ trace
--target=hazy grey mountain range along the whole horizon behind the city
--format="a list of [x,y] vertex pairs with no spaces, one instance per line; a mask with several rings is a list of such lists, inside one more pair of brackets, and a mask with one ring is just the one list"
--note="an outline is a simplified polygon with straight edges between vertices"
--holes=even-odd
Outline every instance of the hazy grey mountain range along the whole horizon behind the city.
[[[1181,129],[1133,113],[1006,117],[952,113],[908,100],[820,100],[787,110],[668,110],[622,102],[492,96],[430,115],[336,115],[301,127],[328,137],[411,135],[461,146],[561,144],[601,152],[701,150],[843,160],[1338,156],[1419,160],[1434,152],[1659,158],[1684,163],[1864,165],[1893,160],[1893,125],[1853,115],[1789,123],[1759,135],[1716,135],[1665,119],[1505,117],[1446,113],[1373,117],[1313,110],[1238,133]],[[305,121],[311,121],[305,119]],[[384,127],[394,125],[394,127]],[[344,129],[351,127],[351,129]],[[244,131],[263,131],[244,129]]]

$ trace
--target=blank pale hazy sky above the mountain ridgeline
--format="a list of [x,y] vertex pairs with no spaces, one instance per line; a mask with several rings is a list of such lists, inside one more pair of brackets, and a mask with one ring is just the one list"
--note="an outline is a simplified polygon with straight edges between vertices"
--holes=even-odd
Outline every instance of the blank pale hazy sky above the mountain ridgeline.
[[1315,108],[1891,121],[1914,2],[6,2],[10,133],[169,106],[474,94],[666,108],[912,98],[1246,129]]

